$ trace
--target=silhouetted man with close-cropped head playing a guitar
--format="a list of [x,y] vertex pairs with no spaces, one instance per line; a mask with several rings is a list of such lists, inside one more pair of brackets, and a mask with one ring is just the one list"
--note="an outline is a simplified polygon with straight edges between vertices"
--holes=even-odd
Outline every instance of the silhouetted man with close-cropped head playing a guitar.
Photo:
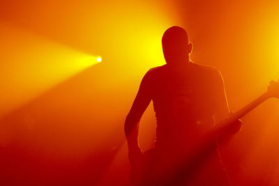
[[[132,172],[145,180],[134,179],[134,183],[229,185],[218,143],[204,146],[205,151],[195,148],[207,140],[204,131],[229,114],[223,77],[215,68],[190,61],[193,45],[181,27],[167,29],[162,44],[167,64],[144,75],[125,122]],[[151,100],[157,119],[156,144],[144,155],[138,145],[138,125]],[[240,126],[236,122],[227,132],[238,132]],[[144,171],[137,171],[144,166]]]

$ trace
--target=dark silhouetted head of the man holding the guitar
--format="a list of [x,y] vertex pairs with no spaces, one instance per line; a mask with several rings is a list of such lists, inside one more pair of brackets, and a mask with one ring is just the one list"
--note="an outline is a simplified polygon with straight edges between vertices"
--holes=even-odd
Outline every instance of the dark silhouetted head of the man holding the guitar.
[[165,61],[170,65],[185,63],[193,49],[186,31],[179,26],[172,26],[165,31],[162,45]]

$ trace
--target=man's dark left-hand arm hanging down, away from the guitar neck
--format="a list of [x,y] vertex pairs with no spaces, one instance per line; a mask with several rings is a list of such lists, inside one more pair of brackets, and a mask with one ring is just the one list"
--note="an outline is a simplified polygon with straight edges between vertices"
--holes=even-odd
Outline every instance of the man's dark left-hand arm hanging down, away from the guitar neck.
[[126,117],[124,125],[125,134],[128,141],[129,159],[132,164],[142,155],[142,151],[140,150],[138,144],[139,123],[140,118],[142,118],[142,114],[144,114],[144,111],[149,106],[150,102],[151,79],[150,72],[147,72],[142,79],[140,89],[137,92],[137,96],[128,113],[128,116]]

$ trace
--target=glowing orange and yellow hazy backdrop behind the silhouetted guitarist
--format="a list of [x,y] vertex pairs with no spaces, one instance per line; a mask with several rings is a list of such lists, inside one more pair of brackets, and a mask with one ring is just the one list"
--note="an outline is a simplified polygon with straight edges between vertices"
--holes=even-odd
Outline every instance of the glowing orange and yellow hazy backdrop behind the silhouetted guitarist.
[[[279,77],[277,1],[1,1],[1,185],[126,185],[123,122],[173,25],[190,58],[222,72],[236,111]],[[96,57],[102,56],[101,63]],[[243,118],[223,149],[236,185],[279,185],[279,101]],[[149,107],[140,145],[151,148]]]

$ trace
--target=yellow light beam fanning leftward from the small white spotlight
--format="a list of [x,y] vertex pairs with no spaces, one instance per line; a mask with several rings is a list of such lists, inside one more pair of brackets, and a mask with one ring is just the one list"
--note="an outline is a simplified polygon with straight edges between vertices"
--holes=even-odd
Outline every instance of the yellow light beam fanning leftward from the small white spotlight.
[[0,63],[0,118],[98,63],[98,56],[21,27],[0,22],[0,28],[0,59],[7,61]]

